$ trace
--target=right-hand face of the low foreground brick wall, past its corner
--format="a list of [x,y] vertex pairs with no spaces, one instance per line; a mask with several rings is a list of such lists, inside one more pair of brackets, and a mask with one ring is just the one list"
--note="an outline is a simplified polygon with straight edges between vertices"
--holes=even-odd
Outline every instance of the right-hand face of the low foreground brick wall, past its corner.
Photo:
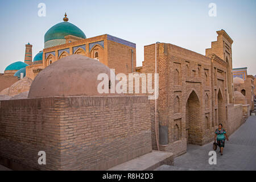
[[143,96],[64,98],[62,169],[104,170],[150,152],[149,109]]

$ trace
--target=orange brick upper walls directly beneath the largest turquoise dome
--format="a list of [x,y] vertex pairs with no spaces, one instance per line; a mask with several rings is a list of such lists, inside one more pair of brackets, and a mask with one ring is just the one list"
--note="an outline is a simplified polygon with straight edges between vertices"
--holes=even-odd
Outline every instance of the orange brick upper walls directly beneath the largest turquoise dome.
[[[102,64],[105,64],[109,68],[115,69],[116,73],[131,73],[131,50],[133,50],[133,71],[136,69],[136,48],[126,46],[117,42],[113,42],[107,39],[107,34],[96,36],[93,38],[82,39],[76,42],[63,44],[60,46],[50,47],[43,49],[43,68],[48,66],[47,57],[45,53],[55,52],[55,56],[52,56],[52,61],[59,59],[58,50],[69,49],[69,55],[73,54],[72,47],[81,46],[85,44],[86,51],[83,51],[82,55],[90,58],[94,58],[94,52],[98,52],[98,59]],[[94,42],[104,41],[104,47],[94,46],[89,51],[89,44]]]

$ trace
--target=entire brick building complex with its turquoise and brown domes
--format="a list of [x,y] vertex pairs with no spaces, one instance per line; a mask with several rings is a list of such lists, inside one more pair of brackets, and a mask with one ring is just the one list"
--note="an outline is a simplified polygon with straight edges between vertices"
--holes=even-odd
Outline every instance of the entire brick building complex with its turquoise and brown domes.
[[[218,123],[232,134],[253,108],[254,78],[247,76],[247,85],[233,82],[233,40],[224,30],[217,34],[205,55],[168,43],[144,46],[136,68],[134,43],[108,34],[86,38],[65,15],[46,32],[33,61],[28,43],[24,63],[0,75],[0,163],[104,170],[152,150],[181,155],[188,143],[211,142]],[[155,58],[157,102],[148,93],[98,93],[98,74],[110,77],[111,68],[143,80],[143,73],[155,73]],[[39,151],[46,151],[47,165],[38,164]]]

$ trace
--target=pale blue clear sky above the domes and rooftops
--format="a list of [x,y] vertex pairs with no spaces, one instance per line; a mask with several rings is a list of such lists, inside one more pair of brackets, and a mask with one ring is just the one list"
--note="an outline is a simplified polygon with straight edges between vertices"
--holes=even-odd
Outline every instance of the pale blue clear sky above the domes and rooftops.
[[[45,3],[46,16],[38,16]],[[209,16],[210,3],[216,16]],[[255,0],[9,0],[0,1],[0,73],[15,61],[24,61],[25,44],[33,45],[33,57],[44,47],[44,34],[53,25],[69,22],[87,38],[110,34],[137,44],[137,66],[144,46],[155,42],[175,44],[205,55],[205,49],[224,29],[234,40],[233,68],[247,67],[256,75]]]

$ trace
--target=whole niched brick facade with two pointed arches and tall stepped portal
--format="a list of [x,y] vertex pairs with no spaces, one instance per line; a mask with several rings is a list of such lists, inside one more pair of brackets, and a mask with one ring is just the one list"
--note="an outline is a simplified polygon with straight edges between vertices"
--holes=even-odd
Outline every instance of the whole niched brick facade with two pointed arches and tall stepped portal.
[[[186,152],[188,143],[211,142],[218,123],[222,123],[230,135],[245,121],[242,111],[246,108],[233,105],[233,81],[230,79],[233,40],[223,30],[217,33],[217,42],[207,49],[207,56],[172,44],[157,44],[157,137],[155,102],[150,102],[154,150],[157,138],[160,150],[177,156]],[[224,57],[228,59],[224,61]],[[155,44],[144,46],[144,61],[139,72],[155,72]]]

